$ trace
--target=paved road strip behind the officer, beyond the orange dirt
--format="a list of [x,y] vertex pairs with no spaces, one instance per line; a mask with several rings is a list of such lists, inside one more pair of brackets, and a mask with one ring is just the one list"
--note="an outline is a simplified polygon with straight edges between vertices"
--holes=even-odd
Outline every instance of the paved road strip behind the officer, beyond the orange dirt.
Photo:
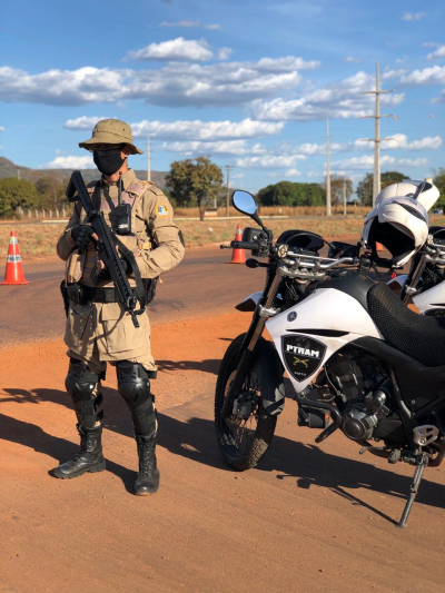
[[[180,266],[162,276],[149,306],[152,324],[197,315],[228,313],[248,294],[260,290],[265,271],[227,265],[231,251],[189,249]],[[65,313],[59,285],[63,261],[24,261],[31,284],[0,286],[0,346],[62,335]]]

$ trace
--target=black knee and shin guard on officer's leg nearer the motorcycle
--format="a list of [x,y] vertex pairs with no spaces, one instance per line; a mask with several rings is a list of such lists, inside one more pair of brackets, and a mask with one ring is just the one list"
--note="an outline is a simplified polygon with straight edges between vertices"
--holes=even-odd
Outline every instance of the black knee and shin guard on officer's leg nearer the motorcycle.
[[147,370],[129,360],[119,360],[116,369],[118,389],[130,408],[136,436],[152,434],[156,431],[156,411]]

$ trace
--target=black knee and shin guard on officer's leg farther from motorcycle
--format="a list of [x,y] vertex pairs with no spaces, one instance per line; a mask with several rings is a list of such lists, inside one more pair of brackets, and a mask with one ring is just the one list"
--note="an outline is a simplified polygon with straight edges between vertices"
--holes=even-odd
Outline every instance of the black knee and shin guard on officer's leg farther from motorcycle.
[[65,386],[75,405],[77,421],[86,428],[93,428],[103,417],[102,394],[93,395],[100,375],[92,373],[81,360],[70,358]]

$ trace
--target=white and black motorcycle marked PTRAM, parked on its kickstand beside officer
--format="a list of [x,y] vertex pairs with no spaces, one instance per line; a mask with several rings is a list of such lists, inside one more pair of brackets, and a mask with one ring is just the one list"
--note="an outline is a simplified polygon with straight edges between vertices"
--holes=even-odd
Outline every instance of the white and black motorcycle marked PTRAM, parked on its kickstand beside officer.
[[[247,266],[267,276],[264,290],[238,305],[253,320],[218,374],[224,458],[244,471],[265,455],[285,405],[286,370],[298,423],[322,431],[316,443],[340,429],[360,453],[415,466],[404,527],[425,467],[445,456],[445,320],[416,315],[386,284],[363,276],[356,254],[320,257],[317,235],[287,231],[274,244],[250,194],[235,191],[233,205],[261,229],[246,228],[230,248],[251,250],[259,260]],[[261,337],[265,327],[274,343]]]

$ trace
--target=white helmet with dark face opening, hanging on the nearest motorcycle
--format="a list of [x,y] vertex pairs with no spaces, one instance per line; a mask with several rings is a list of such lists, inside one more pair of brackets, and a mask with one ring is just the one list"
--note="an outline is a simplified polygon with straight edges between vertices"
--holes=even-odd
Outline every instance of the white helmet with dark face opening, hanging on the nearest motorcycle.
[[[403,266],[418,251],[427,236],[428,215],[418,200],[411,197],[387,198],[366,217],[362,245],[372,250],[374,259],[389,266]],[[389,251],[389,259],[377,255],[378,243]]]

